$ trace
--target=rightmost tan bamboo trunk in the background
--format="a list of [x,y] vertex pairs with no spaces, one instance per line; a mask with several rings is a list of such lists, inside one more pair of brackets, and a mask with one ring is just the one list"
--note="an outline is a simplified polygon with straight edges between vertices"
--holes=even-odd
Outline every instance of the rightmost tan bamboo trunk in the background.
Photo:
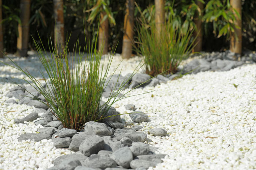
[[[230,37],[230,50],[232,52],[242,53],[242,7],[241,0],[230,0],[230,5],[235,11],[235,28]],[[240,15],[240,16],[239,16]]]

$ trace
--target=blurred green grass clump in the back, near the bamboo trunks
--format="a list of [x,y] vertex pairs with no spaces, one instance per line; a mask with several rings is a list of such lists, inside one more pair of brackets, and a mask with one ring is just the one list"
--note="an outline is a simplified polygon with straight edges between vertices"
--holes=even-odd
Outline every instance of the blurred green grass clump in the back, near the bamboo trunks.
[[157,76],[163,72],[176,73],[181,61],[187,59],[191,53],[194,29],[184,31],[174,27],[172,16],[163,25],[160,35],[154,21],[148,24],[142,15],[139,23],[136,51],[143,57],[146,74]]

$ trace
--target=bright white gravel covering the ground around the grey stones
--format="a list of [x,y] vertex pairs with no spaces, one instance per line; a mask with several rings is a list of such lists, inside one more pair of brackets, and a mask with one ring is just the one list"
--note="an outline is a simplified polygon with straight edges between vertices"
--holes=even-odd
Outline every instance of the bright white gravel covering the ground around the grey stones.
[[[12,58],[41,79],[37,57]],[[8,62],[7,59],[1,61]],[[120,61],[120,55],[116,55],[110,72]],[[123,60],[122,75],[131,73],[138,63],[138,57]],[[9,99],[5,94],[15,86],[11,80],[24,83],[23,77],[19,71],[0,63],[0,170],[45,170],[53,166],[55,158],[73,153],[55,148],[51,139],[18,141],[20,134],[34,133],[40,128],[33,122],[13,124],[14,118],[25,117],[33,107],[5,103]],[[238,85],[237,88],[233,84]],[[159,147],[159,153],[170,156],[150,170],[256,168],[255,64],[228,72],[186,75],[156,87],[135,89],[129,94],[148,91],[153,92],[123,99],[114,107],[120,113],[127,113],[124,106],[135,104],[148,113],[150,121],[137,124],[131,122],[129,116],[122,115],[127,124],[141,125],[145,132],[154,127],[168,131],[165,137],[148,134],[148,143]]]

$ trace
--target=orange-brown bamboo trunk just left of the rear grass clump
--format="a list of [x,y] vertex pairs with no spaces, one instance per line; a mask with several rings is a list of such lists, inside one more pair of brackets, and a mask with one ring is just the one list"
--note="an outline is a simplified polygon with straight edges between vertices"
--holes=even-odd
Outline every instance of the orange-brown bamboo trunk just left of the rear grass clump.
[[134,0],[126,0],[126,13],[124,16],[124,35],[122,45],[122,57],[131,58],[133,46],[134,27]]

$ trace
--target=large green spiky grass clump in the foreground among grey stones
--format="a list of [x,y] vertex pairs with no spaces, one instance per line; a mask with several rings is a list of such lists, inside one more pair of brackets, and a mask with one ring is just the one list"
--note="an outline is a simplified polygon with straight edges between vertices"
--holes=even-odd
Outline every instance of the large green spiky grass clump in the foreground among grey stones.
[[[65,128],[81,130],[84,127],[84,123],[88,121],[98,121],[106,118],[104,115],[111,105],[125,98],[124,95],[132,90],[121,95],[125,85],[127,85],[136,72],[133,72],[130,77],[126,77],[118,88],[116,85],[112,87],[115,90],[110,93],[107,102],[101,103],[102,94],[109,82],[106,80],[113,60],[113,53],[111,52],[107,58],[104,71],[105,62],[101,64],[102,49],[97,52],[96,48],[94,48],[97,43],[97,35],[94,34],[94,43],[89,46],[91,53],[89,57],[87,56],[87,60],[85,59],[84,64],[82,61],[84,51],[81,52],[78,41],[72,54],[69,53],[67,45],[55,48],[51,39],[48,42],[49,49],[51,49],[50,54],[46,52],[44,46],[39,45],[34,40],[38,57],[47,73],[47,76],[45,76],[40,71],[45,80],[46,87],[30,73],[22,70],[14,61],[9,59],[14,64],[11,67],[24,73],[32,83],[26,79],[24,80],[45,97],[46,102],[39,101],[48,105],[50,111],[58,117]],[[56,51],[55,49],[61,49],[61,51]],[[117,97],[120,95],[121,97]]]

